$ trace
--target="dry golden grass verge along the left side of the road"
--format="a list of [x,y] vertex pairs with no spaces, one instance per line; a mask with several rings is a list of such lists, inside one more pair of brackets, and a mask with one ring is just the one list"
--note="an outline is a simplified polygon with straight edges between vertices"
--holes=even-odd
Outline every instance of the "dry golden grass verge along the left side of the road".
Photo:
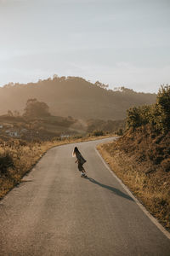
[[81,143],[93,141],[107,136],[74,136],[56,138],[51,142],[31,142],[10,139],[0,141],[0,199],[8,193],[15,185],[20,183],[22,177],[30,172],[49,148],[68,143]]

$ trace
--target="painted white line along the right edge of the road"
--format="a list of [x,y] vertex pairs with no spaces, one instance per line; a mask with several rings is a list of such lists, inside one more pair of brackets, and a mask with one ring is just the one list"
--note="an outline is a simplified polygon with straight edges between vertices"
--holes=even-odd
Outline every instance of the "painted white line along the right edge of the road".
[[99,151],[97,150],[97,148],[95,148],[95,151],[96,151],[97,154],[99,155],[99,158],[102,160],[102,162],[104,163],[105,167],[109,170],[109,172],[111,172],[111,174],[113,175],[113,177],[115,177],[116,180],[117,180],[119,183],[121,183],[123,189],[125,189],[125,190],[127,191],[128,195],[130,195],[130,196],[133,198],[133,200],[137,203],[137,205],[140,207],[140,209],[148,216],[148,218],[150,218],[150,220],[151,220],[154,224],[156,224],[156,227],[157,227],[159,230],[161,230],[161,232],[162,232],[165,236],[167,236],[168,239],[170,239],[170,234],[169,234],[169,232],[167,232],[167,230],[165,230],[165,229],[161,226],[161,224],[157,221],[157,219],[154,218],[154,217],[150,214],[150,212],[148,212],[148,211],[146,210],[146,208],[139,202],[139,200],[132,194],[132,192],[131,192],[129,189],[127,189],[127,186],[125,186],[125,184],[122,183],[122,180],[121,180],[119,177],[116,176],[116,174],[111,170],[110,166],[105,162],[105,160],[103,159],[103,157],[101,156],[101,154],[99,154]]

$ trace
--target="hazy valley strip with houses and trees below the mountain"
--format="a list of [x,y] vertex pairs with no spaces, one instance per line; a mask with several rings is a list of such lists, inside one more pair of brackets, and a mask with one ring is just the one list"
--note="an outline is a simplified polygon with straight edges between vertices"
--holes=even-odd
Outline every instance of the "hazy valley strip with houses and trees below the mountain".
[[17,137],[27,141],[39,139],[48,141],[54,137],[93,134],[94,131],[103,133],[116,132],[124,127],[124,120],[101,119],[74,119],[72,117],[59,117],[49,115],[47,117],[14,117],[0,116],[0,137],[5,139],[6,131],[17,132]]

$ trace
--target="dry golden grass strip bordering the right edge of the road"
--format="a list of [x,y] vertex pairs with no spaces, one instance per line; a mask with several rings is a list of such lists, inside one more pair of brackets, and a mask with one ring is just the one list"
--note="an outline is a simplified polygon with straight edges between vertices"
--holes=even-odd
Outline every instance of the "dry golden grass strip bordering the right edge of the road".
[[[123,139],[123,138],[122,138]],[[133,192],[147,210],[170,231],[170,172],[148,172],[150,163],[136,160],[136,152],[129,155],[117,140],[100,144],[99,153],[111,170]]]

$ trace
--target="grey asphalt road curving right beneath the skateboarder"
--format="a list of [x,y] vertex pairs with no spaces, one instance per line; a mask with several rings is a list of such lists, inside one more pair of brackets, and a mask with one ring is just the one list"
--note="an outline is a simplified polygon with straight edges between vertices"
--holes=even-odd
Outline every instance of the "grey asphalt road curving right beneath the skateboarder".
[[105,167],[98,142],[52,148],[0,201],[0,255],[170,255],[170,240]]

